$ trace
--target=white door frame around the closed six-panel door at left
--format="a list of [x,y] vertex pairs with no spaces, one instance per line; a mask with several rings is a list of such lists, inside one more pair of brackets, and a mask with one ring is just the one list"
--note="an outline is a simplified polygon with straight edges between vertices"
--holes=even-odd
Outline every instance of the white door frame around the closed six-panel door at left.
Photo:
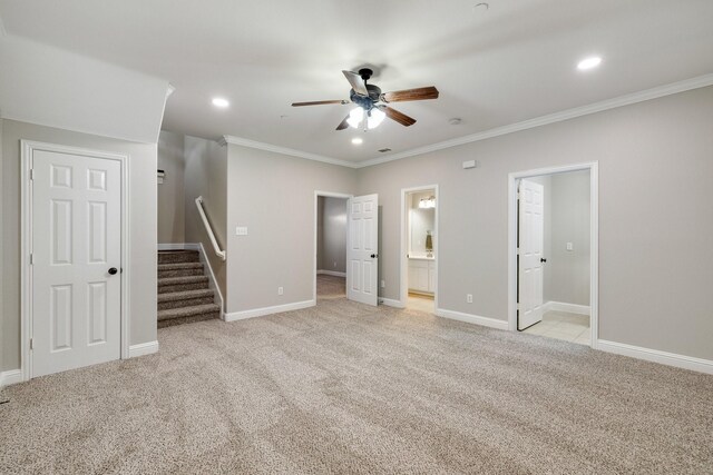
[[20,140],[21,168],[20,168],[20,372],[22,380],[32,378],[32,352],[30,338],[32,337],[32,266],[30,265],[30,251],[32,249],[32,180],[30,161],[36,150],[56,154],[79,155],[104,160],[116,160],[121,167],[121,309],[119,313],[119,348],[120,359],[129,357],[129,156],[127,154],[94,150],[88,148],[70,147],[57,144],[46,144],[33,140]]

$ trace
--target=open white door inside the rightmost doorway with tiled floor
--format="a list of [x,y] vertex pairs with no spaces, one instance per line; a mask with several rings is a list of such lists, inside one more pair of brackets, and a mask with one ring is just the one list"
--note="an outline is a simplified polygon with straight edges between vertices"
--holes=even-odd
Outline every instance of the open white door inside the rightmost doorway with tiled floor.
[[543,319],[545,194],[541,185],[520,180],[518,227],[517,329]]

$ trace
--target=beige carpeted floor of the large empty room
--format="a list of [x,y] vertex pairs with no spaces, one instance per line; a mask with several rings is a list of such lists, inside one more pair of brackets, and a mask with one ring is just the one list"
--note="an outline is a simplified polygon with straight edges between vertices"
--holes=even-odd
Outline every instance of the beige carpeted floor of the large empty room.
[[346,301],[11,386],[0,473],[713,473],[713,377]]

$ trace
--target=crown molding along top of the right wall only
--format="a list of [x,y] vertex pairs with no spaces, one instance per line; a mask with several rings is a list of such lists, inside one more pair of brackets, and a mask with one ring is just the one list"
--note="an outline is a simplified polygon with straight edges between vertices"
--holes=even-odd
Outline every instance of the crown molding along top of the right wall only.
[[437,142],[437,144],[428,145],[424,147],[418,147],[411,150],[406,150],[399,154],[390,155],[388,157],[372,158],[371,160],[360,161],[355,168],[363,168],[363,167],[371,167],[380,164],[387,164],[389,161],[400,160],[402,158],[414,157],[417,155],[423,155],[423,154],[429,154],[437,150],[443,150],[451,147],[458,147],[461,145],[486,140],[494,137],[505,136],[507,133],[519,132],[521,130],[534,129],[536,127],[547,126],[549,123],[555,123],[555,122],[561,122],[563,120],[575,119],[577,117],[603,112],[605,110],[615,109],[617,107],[631,106],[633,103],[644,102],[646,100],[657,99],[664,96],[671,96],[678,92],[685,92],[692,89],[704,88],[707,86],[713,86],[713,73],[699,76],[696,78],[686,79],[684,81],[674,82],[671,85],[658,86],[652,89],[646,89],[643,91],[619,96],[614,99],[607,99],[607,100],[590,103],[587,106],[575,107],[574,109],[567,109],[560,112],[536,117],[534,119],[524,120],[521,122],[497,127],[495,129],[485,130],[482,132],[472,133],[469,136],[459,137],[459,138],[446,140],[442,142]]

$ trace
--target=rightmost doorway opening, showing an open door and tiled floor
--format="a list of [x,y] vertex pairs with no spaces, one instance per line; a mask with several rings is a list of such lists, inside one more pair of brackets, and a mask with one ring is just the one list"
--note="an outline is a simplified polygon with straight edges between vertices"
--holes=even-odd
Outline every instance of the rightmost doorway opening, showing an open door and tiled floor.
[[595,347],[597,164],[509,178],[510,329]]

